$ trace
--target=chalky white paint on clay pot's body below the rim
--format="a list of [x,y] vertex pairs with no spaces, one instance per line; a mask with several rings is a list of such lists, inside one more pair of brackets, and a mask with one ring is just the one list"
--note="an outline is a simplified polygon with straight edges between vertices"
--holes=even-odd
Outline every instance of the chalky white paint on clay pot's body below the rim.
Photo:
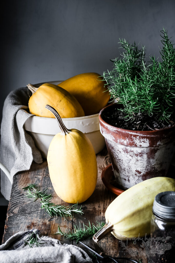
[[[169,158],[172,155],[171,142],[157,147],[130,147],[107,141],[108,147],[113,149],[112,166],[118,185],[123,189],[143,181],[143,175],[149,173],[152,168],[152,177],[162,176],[159,173],[160,167],[166,172],[169,168]],[[150,148],[155,154],[150,156]],[[127,149],[127,150],[126,150]],[[114,167],[117,167],[116,170]],[[130,175],[130,176],[128,176]]]

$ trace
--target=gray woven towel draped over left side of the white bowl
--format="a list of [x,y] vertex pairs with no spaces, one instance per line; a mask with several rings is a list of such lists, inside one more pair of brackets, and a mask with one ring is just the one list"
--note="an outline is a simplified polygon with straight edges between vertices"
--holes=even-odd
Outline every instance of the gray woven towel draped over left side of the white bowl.
[[[25,121],[33,116],[28,108],[28,89],[19,88],[7,96],[1,123],[0,161],[10,171],[11,179],[30,169],[32,161],[42,163],[39,150],[31,136],[24,130]],[[12,184],[1,170],[1,193],[9,200]]]

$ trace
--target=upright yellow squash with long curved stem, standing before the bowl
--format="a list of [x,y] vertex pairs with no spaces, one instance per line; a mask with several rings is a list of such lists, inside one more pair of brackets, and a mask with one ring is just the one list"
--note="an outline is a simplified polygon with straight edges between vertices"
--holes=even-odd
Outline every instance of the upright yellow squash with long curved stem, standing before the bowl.
[[77,129],[68,130],[60,115],[46,105],[56,117],[62,132],[52,139],[47,162],[56,194],[65,202],[76,204],[87,200],[97,183],[97,160],[87,136]]

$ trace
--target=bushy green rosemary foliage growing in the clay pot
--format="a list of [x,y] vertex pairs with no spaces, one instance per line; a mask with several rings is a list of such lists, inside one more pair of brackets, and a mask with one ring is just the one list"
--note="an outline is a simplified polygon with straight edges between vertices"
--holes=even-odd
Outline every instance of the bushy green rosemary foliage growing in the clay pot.
[[117,99],[123,108],[125,118],[135,119],[142,114],[169,121],[175,111],[175,48],[167,31],[161,32],[161,62],[150,57],[146,62],[145,47],[129,44],[120,39],[120,57],[111,60],[113,70],[103,73],[103,80],[111,98]]

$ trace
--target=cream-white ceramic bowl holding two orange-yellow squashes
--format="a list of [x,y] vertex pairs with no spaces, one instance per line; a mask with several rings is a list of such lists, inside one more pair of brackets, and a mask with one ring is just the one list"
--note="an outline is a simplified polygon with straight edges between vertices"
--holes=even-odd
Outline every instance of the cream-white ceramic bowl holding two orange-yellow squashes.
[[[46,83],[46,82],[44,82]],[[52,84],[59,84],[61,81],[47,82]],[[39,87],[43,83],[35,84]],[[77,117],[77,118],[63,118],[62,121],[68,129],[75,128],[87,135],[91,141],[95,153],[99,153],[105,146],[105,140],[100,133],[99,114]],[[39,116],[32,116],[24,123],[24,128],[31,135],[35,142],[35,146],[41,152],[43,158],[47,158],[47,151],[51,140],[55,134],[61,132],[59,125],[55,118],[46,118]]]

